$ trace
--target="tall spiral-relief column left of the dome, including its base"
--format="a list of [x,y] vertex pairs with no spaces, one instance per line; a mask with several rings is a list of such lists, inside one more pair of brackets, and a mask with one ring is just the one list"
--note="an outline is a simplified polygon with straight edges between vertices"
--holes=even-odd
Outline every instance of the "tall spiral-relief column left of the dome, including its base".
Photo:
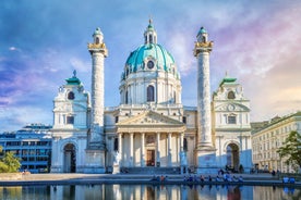
[[104,135],[104,90],[105,90],[105,58],[108,50],[104,43],[104,35],[100,28],[93,34],[94,42],[88,43],[92,57],[92,95],[91,95],[91,134],[87,143],[86,161],[87,171],[92,173],[105,173],[105,135]]

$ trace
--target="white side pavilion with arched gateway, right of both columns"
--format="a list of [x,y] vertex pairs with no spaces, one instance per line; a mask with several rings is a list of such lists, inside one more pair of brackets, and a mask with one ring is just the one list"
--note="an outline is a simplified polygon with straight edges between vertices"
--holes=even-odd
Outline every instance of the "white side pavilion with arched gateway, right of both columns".
[[213,125],[218,167],[252,167],[250,100],[236,78],[226,75],[213,96]]

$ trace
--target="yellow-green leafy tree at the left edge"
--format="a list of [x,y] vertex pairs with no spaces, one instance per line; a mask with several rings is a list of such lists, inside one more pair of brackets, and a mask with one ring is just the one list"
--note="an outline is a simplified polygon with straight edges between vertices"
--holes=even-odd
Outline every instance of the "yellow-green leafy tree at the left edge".
[[[2,153],[2,147],[0,146],[0,152]],[[17,172],[21,166],[20,159],[15,158],[12,152],[7,152],[2,159],[0,159],[0,173]]]

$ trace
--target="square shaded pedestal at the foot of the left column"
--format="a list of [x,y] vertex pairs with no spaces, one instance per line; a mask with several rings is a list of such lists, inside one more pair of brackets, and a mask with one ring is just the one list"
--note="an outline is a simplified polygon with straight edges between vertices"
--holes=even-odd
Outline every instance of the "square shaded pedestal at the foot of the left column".
[[105,174],[105,150],[86,149],[84,173],[87,174]]

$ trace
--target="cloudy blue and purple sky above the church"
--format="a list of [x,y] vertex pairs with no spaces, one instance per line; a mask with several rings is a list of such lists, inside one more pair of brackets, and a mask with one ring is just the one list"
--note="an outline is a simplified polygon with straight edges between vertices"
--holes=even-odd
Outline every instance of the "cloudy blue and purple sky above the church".
[[301,110],[301,1],[1,0],[0,132],[52,124],[52,100],[73,70],[89,90],[86,45],[96,27],[109,49],[105,104],[118,105],[124,62],[143,43],[149,16],[178,63],[185,105],[196,105],[192,50],[205,26],[215,42],[212,90],[228,71],[251,100],[252,121]]

